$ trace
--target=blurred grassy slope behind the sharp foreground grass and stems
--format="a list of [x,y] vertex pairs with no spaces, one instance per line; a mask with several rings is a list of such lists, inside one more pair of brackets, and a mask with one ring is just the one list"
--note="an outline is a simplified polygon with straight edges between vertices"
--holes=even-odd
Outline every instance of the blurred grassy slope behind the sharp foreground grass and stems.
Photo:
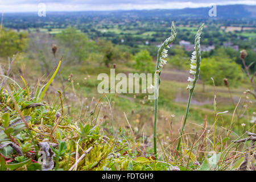
[[[18,60],[15,64],[15,67],[13,68],[13,72],[18,73],[15,72],[16,70],[18,70],[17,67],[22,68],[21,66],[24,64],[24,68],[22,68],[21,70],[23,72],[22,74],[24,78],[26,78],[26,81],[28,82],[28,85],[30,85],[30,90],[32,89],[32,85],[35,85],[37,78],[41,77],[38,74],[40,72],[40,69],[37,66],[30,67],[31,63],[37,65],[35,64],[35,60]],[[3,64],[7,68],[6,61],[4,61]],[[125,64],[117,64],[115,73],[129,73],[133,71],[133,69],[126,67]],[[82,119],[82,121],[88,122],[86,121],[86,119],[84,120],[83,118],[86,118],[85,116],[89,115],[89,113],[93,111],[98,100],[100,100],[100,98],[102,97],[101,94],[97,93],[97,83],[99,82],[97,81],[97,75],[98,73],[104,72],[109,73],[109,68],[101,67],[96,63],[86,63],[84,65],[80,65],[79,67],[77,65],[62,65],[59,73],[63,76],[64,85],[67,86],[70,83],[70,80],[68,80],[68,76],[70,75],[70,73],[73,74],[72,80],[75,81],[73,87],[72,85],[69,86],[69,88],[65,92],[65,96],[68,97],[64,101],[64,113],[69,114],[69,117],[72,118],[72,122],[76,123],[80,121],[80,118]],[[188,93],[185,89],[187,86],[187,82],[183,82],[182,79],[180,80],[180,78],[187,77],[187,73],[171,69],[167,69],[163,73],[166,73],[167,75],[163,77],[160,85],[158,135],[159,138],[163,140],[163,144],[167,144],[167,146],[164,147],[168,148],[168,143],[170,143],[170,146],[174,144],[173,140],[170,140],[170,137],[177,137],[178,130],[180,129],[182,124],[181,120],[184,115]],[[174,77],[174,75],[178,76]],[[15,74],[13,76],[21,86],[24,86],[18,74]],[[175,81],[178,80],[177,78],[179,78],[179,81]],[[46,78],[46,76],[43,77],[43,80],[48,79]],[[53,106],[54,102],[57,100],[57,90],[61,90],[62,86],[63,85],[60,82],[59,75],[57,75],[55,81],[53,81],[52,85],[48,89],[47,97],[44,98],[44,101],[48,102],[49,106]],[[242,85],[238,88],[232,88],[233,96],[236,97],[236,100],[237,97],[242,97],[243,100],[245,100],[243,92],[245,91],[245,88],[249,87],[250,85]],[[190,133],[191,137],[193,137],[193,134],[195,134],[195,132],[203,132],[202,127],[204,125],[205,115],[207,115],[208,129],[210,129],[214,122],[212,104],[214,95],[213,86],[206,86],[205,90],[206,91],[203,93],[202,85],[197,84],[195,95],[193,97],[191,111],[189,113],[188,125],[185,128],[186,133]],[[223,122],[224,127],[228,127],[232,118],[232,112],[234,107],[232,105],[232,102],[230,101],[229,93],[225,87],[217,87],[216,92],[218,111],[230,110],[229,113],[224,115],[223,120],[219,120],[217,123],[217,130],[219,131],[218,133],[220,133],[225,131],[221,127],[223,125]],[[137,138],[137,142],[142,142],[142,136],[148,139],[149,143],[147,144],[147,152],[149,153],[147,153],[146,155],[150,154],[150,152],[152,152],[150,150],[150,148],[152,148],[150,140],[152,137],[154,101],[151,102],[147,100],[146,94],[108,94],[107,96],[110,99],[113,114],[110,114],[110,107],[106,98],[102,98],[100,102],[101,110],[97,117],[97,124],[106,127],[106,129],[111,129],[111,117],[113,117],[114,127],[117,128],[117,126],[119,126],[122,129],[125,129],[125,134],[123,136],[129,136],[131,133],[129,133],[129,125],[127,124],[127,121],[125,119],[126,114],[127,119],[130,122],[133,132]],[[251,97],[249,99],[252,100]],[[96,114],[98,109],[96,110]],[[247,113],[251,115],[254,110],[255,102],[250,104]],[[175,117],[173,117],[173,115],[175,115]],[[236,127],[234,128],[234,131],[236,131],[236,133],[242,133],[245,130],[249,129],[249,119],[250,118],[247,118],[245,114],[245,117],[243,117],[239,123],[235,121]],[[242,129],[240,124],[242,122],[246,123],[244,129]],[[170,126],[172,126],[172,134],[170,134]],[[102,133],[109,133],[109,130],[102,130]],[[193,139],[191,137],[188,137],[187,142],[184,143],[185,145],[191,146]],[[236,138],[233,134],[230,137]],[[132,143],[132,141],[130,140],[129,142]],[[210,143],[208,145],[210,145]],[[139,143],[137,143],[136,146],[141,147]],[[158,147],[160,153],[162,153],[160,146]],[[132,155],[134,155],[134,160],[137,159],[136,151],[134,151]],[[125,160],[126,164],[131,161],[131,159],[129,158],[123,158],[122,160]],[[120,164],[123,163],[122,160],[119,161]],[[201,159],[197,160],[199,160],[200,163],[202,162]],[[242,162],[242,159],[240,162]],[[178,162],[177,164],[181,163]],[[174,165],[175,164],[176,163],[174,163]],[[184,166],[184,164],[181,164],[181,166]],[[158,169],[163,168],[159,167]]]

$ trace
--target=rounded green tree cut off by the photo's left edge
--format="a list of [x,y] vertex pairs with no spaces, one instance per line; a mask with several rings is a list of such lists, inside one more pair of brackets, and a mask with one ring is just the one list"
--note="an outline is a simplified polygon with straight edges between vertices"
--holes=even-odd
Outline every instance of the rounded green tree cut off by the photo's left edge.
[[27,32],[15,32],[12,30],[2,29],[0,38],[0,56],[13,56],[17,52],[22,52],[27,48]]

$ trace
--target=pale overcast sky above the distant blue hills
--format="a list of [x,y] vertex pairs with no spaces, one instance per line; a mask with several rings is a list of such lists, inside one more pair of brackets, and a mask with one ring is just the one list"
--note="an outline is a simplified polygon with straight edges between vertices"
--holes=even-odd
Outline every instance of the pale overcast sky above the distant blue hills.
[[46,5],[46,11],[183,9],[207,7],[210,3],[256,5],[255,0],[0,0],[0,12],[36,12],[40,3]]

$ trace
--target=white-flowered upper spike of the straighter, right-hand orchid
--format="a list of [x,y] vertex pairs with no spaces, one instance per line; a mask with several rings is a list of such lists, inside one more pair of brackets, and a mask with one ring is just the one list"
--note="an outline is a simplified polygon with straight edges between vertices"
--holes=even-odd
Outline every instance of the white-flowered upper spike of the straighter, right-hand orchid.
[[200,73],[200,64],[201,64],[201,49],[200,49],[200,35],[203,31],[203,26],[202,24],[199,28],[199,30],[196,33],[195,36],[195,51],[192,52],[191,56],[191,64],[190,64],[190,70],[189,73],[191,74],[192,77],[188,77],[188,90],[193,90],[195,89],[196,86],[196,81],[198,80],[199,73]]

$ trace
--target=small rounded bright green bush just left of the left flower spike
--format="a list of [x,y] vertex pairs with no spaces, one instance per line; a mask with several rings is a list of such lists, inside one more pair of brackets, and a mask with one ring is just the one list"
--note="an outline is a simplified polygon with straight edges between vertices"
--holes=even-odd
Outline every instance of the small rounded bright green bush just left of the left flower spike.
[[140,72],[154,72],[154,63],[152,61],[152,57],[146,49],[136,53],[134,59],[135,69],[139,70]]

